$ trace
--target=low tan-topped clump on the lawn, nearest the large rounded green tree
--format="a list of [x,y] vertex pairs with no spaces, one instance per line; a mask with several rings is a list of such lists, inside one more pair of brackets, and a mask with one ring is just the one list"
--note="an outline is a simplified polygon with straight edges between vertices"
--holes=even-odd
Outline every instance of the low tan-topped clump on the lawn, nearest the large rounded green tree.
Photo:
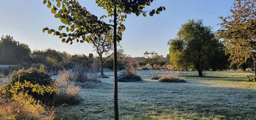
[[179,73],[169,73],[161,75],[159,82],[187,82],[185,78],[179,77]]

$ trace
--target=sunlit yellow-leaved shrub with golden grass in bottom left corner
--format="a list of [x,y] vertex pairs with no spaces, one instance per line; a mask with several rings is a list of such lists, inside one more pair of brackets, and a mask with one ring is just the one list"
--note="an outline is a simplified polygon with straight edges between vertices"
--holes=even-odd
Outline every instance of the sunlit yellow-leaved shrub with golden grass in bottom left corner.
[[[1,78],[4,79],[4,78]],[[4,80],[6,81],[6,80]],[[0,119],[2,120],[53,120],[54,111],[46,111],[40,101],[28,95],[26,89],[35,94],[58,94],[59,89],[40,86],[31,82],[0,84]]]

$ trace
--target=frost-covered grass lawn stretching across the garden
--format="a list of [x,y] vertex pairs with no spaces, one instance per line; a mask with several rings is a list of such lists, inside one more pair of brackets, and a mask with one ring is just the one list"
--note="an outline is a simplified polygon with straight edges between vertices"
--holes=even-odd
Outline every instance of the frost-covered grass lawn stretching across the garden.
[[[184,76],[187,82],[166,83],[148,80],[153,72],[139,71],[144,78],[141,82],[118,83],[121,120],[256,119],[256,82],[245,82],[252,73],[206,71],[206,77]],[[81,96],[84,101],[79,105],[60,108],[58,119],[114,118],[113,78],[81,83]]]

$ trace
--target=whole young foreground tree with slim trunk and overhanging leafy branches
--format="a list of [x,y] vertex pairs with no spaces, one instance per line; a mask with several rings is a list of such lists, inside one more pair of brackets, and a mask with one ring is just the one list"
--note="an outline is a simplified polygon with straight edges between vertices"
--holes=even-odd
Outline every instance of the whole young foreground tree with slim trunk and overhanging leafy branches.
[[[102,15],[100,19],[97,16],[87,11],[85,7],[82,7],[77,0],[53,0],[56,5],[50,0],[43,0],[43,3],[47,3],[47,7],[51,8],[51,12],[55,18],[61,19],[61,22],[65,25],[60,25],[59,31],[49,29],[48,27],[43,29],[43,32],[47,31],[49,34],[54,34],[62,38],[62,42],[72,44],[74,40],[83,43],[91,40],[97,40],[96,37],[105,34],[114,43],[114,101],[115,101],[115,120],[119,119],[118,114],[118,91],[117,91],[117,42],[121,41],[122,32],[125,30],[125,26],[122,24],[127,18],[127,14],[135,13],[139,16],[141,13],[144,17],[149,13],[153,16],[155,13],[160,14],[165,10],[165,7],[159,7],[150,11],[143,11],[145,6],[150,6],[154,0],[95,0],[98,6],[102,7],[108,12],[108,15]],[[109,24],[104,22],[103,19],[111,17]],[[113,18],[113,19],[112,19]],[[112,24],[113,23],[113,24]],[[68,33],[60,32],[63,28],[66,28]],[[108,31],[113,29],[113,36],[108,35]]]

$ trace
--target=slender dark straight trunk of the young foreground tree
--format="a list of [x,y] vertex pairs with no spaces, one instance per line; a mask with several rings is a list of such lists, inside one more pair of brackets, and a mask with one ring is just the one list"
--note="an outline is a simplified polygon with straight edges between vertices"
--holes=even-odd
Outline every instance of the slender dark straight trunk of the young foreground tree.
[[117,89],[117,48],[116,48],[116,28],[117,28],[117,13],[116,7],[114,9],[114,109],[115,109],[115,120],[119,120],[118,112],[118,89]]

